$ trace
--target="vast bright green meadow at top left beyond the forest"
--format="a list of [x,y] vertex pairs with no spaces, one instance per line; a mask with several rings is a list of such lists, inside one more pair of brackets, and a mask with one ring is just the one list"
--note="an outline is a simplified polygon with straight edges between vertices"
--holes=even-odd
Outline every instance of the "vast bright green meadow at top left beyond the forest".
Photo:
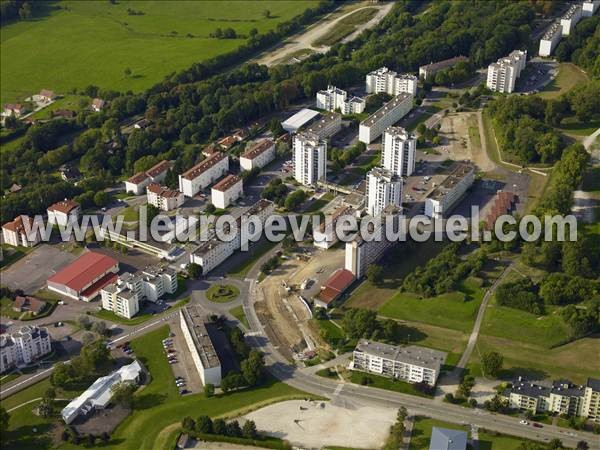
[[[316,0],[61,1],[49,14],[2,27],[2,103],[90,84],[140,91],[165,75],[231,51],[246,39],[217,40],[216,28],[248,35],[274,29]],[[49,8],[50,9],[50,8]],[[129,15],[127,10],[143,12]],[[271,12],[271,18],[263,15]],[[125,69],[131,75],[125,75]]]

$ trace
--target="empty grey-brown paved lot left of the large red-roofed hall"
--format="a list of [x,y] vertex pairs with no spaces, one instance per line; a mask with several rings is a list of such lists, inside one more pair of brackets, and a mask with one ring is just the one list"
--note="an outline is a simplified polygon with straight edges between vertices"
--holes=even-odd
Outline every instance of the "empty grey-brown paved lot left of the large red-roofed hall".
[[2,284],[34,294],[46,286],[46,280],[77,258],[57,246],[40,244],[23,258],[2,271]]

